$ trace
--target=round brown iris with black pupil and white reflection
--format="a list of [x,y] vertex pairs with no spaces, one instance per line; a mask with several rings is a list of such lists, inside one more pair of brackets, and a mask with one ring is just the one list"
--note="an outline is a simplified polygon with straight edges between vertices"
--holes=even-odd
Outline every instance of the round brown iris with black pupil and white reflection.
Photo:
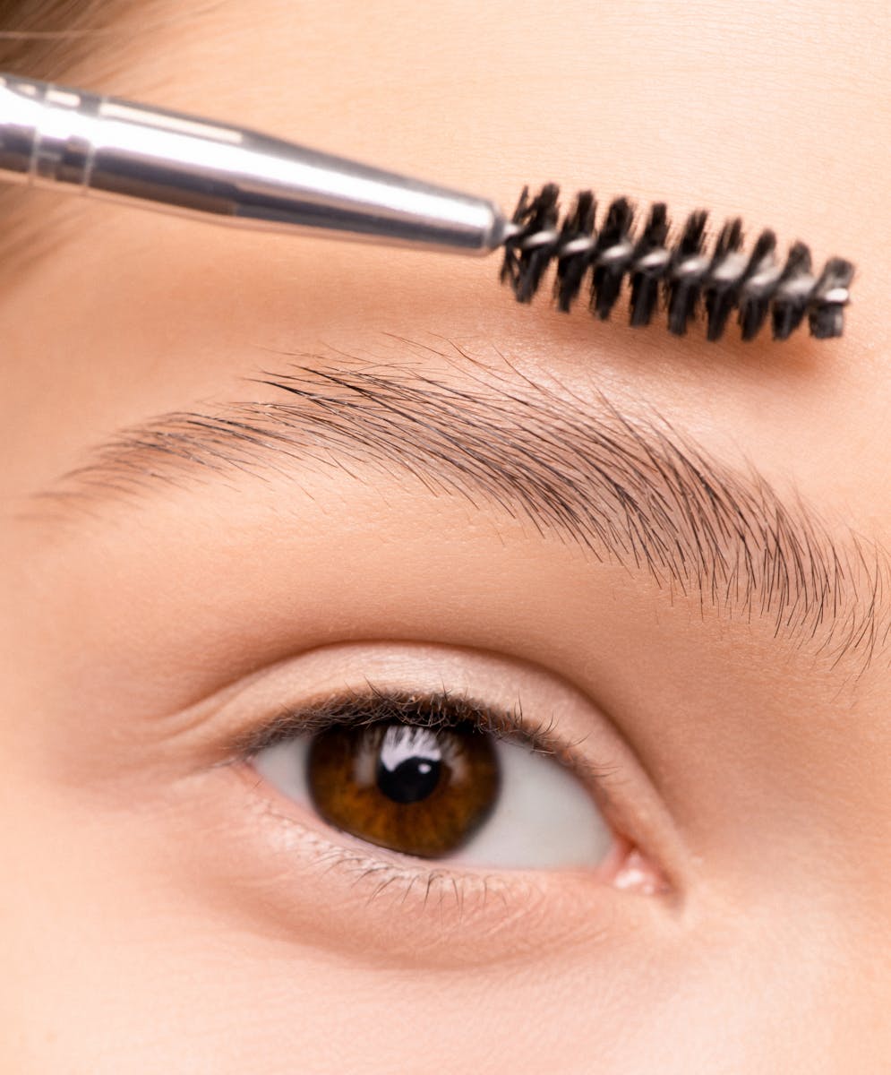
[[315,807],[331,825],[425,858],[469,840],[499,787],[491,737],[473,725],[330,728],[310,746],[307,775]]

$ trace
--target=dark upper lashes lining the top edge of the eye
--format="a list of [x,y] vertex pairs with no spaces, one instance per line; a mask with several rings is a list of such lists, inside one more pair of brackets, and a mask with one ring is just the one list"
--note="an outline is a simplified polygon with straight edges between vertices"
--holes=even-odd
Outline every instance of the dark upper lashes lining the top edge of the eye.
[[298,735],[315,734],[337,725],[361,728],[384,720],[431,729],[470,723],[494,739],[521,742],[535,752],[550,755],[587,782],[600,784],[610,774],[610,770],[580,758],[577,747],[581,740],[566,743],[558,734],[552,718],[537,725],[529,721],[519,702],[507,710],[484,703],[466,692],[393,690],[371,683],[361,689],[335,691],[308,704],[283,710],[265,725],[238,737],[234,751],[238,760],[249,761],[261,750]]

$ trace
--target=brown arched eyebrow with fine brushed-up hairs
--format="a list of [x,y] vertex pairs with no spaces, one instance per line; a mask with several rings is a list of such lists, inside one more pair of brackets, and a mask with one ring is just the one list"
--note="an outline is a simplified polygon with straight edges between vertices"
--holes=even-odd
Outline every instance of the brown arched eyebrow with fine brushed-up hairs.
[[202,475],[288,476],[294,461],[353,477],[371,468],[488,502],[728,617],[770,617],[775,637],[833,668],[857,659],[862,673],[887,645],[891,558],[876,539],[832,533],[795,488],[780,497],[748,458],[714,458],[653,408],[632,419],[602,391],[583,402],[460,354],[485,376],[465,370],[454,384],[349,356],[294,362],[249,378],[279,400],[124,429],[35,499],[94,507]]

